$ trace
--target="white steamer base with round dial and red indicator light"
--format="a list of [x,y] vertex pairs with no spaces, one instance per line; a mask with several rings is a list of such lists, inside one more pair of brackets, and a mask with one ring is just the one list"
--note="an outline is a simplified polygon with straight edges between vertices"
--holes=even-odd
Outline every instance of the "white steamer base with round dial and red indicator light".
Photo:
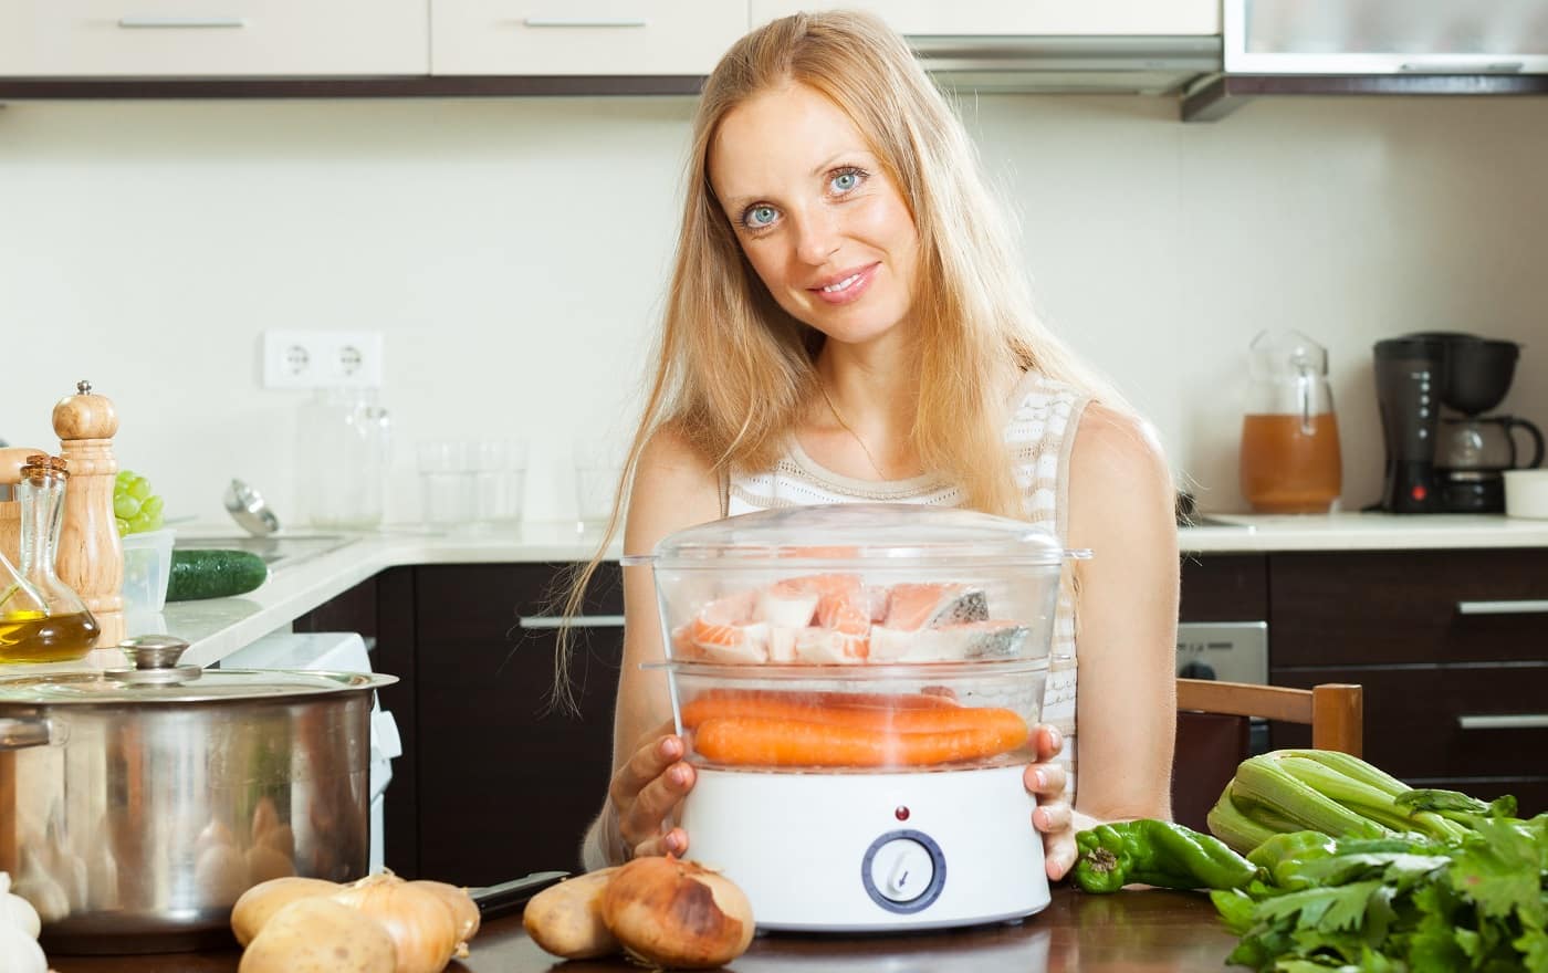
[[1003,922],[1048,905],[1022,770],[698,770],[681,824],[689,857],[735,882],[762,930]]

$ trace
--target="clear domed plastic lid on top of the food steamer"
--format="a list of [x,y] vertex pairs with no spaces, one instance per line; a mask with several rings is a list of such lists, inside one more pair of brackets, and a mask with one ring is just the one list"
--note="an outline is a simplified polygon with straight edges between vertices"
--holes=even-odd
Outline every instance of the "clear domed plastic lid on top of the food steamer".
[[670,568],[854,566],[964,560],[1006,565],[1060,565],[1090,557],[1071,551],[1042,524],[978,510],[910,503],[839,503],[777,507],[728,517],[669,534],[652,555],[625,565]]

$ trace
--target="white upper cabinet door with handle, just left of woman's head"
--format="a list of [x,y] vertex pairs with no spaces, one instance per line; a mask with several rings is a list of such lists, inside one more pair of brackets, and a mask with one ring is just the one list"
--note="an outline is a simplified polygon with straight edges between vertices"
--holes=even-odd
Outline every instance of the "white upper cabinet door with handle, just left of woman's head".
[[709,74],[740,0],[433,0],[433,74]]

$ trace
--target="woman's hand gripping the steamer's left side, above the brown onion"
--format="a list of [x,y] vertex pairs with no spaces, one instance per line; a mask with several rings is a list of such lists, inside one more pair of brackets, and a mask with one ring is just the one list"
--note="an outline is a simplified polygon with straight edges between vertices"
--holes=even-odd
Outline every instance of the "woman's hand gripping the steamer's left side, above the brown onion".
[[687,752],[670,721],[646,736],[628,761],[613,773],[608,798],[618,817],[618,832],[625,854],[678,857],[687,851],[687,832],[667,826],[667,820],[694,789],[694,767],[683,761]]

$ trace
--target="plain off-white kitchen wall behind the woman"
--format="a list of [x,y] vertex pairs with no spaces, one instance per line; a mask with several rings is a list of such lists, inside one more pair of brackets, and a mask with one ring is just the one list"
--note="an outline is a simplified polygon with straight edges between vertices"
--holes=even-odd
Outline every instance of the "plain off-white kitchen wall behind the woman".
[[[88,377],[119,461],[220,523],[231,476],[297,509],[265,328],[373,328],[413,446],[531,444],[528,520],[573,515],[577,438],[621,442],[676,227],[687,99],[14,104],[0,111],[0,436],[50,444]],[[1180,484],[1241,509],[1245,351],[1330,348],[1345,509],[1375,500],[1370,345],[1526,343],[1503,410],[1548,422],[1548,99],[964,97],[1045,317],[1155,422]]]

